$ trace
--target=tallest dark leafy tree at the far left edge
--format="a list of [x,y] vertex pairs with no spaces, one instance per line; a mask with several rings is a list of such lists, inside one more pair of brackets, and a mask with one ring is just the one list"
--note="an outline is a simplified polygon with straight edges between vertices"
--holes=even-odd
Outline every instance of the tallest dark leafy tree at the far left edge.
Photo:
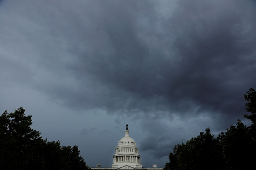
[[[0,116],[0,167],[26,169],[42,165],[40,132],[31,129],[31,116],[20,107]],[[40,168],[38,168],[40,169]]]

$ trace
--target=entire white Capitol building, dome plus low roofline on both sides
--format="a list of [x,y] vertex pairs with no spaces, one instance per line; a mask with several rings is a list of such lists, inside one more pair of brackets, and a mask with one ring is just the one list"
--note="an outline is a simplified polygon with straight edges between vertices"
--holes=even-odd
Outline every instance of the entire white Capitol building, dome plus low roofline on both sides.
[[130,137],[128,125],[124,131],[124,137],[118,142],[116,147],[116,153],[113,155],[112,167],[103,168],[100,164],[96,167],[91,167],[92,170],[123,170],[123,169],[134,169],[134,170],[163,170],[158,168],[156,164],[153,164],[151,168],[144,168],[140,164],[140,154],[135,141]]

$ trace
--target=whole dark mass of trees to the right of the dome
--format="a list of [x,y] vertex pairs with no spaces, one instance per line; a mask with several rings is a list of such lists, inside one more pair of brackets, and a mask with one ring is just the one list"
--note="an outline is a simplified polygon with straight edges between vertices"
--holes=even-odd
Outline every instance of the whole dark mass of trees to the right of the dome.
[[170,162],[164,170],[245,170],[256,169],[256,92],[251,88],[244,95],[246,110],[251,115],[244,117],[252,121],[251,126],[237,120],[218,137],[210,129],[200,132],[186,144],[177,144],[169,155]]

